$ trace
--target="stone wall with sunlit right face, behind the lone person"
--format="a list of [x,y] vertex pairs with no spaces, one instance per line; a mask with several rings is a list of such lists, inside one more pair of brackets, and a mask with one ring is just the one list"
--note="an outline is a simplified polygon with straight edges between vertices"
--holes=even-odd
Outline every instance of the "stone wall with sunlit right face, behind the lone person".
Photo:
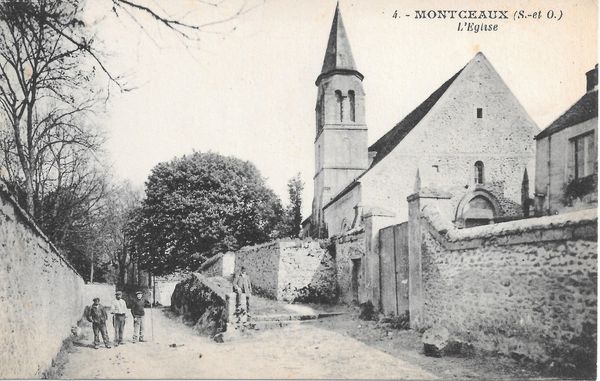
[[245,267],[253,292],[288,302],[336,299],[335,262],[322,243],[276,241],[236,252],[236,273]]

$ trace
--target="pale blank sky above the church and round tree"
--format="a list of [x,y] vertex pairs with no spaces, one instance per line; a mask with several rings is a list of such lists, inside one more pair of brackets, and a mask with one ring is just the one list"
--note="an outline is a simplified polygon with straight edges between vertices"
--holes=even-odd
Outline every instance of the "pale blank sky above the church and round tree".
[[[186,20],[231,13],[194,0],[154,0]],[[242,0],[239,0],[242,1]],[[315,99],[336,2],[273,0],[233,23],[202,35],[199,47],[149,18],[146,32],[110,1],[92,2],[98,39],[111,70],[135,91],[113,91],[101,123],[118,177],[143,186],[161,161],[214,151],[252,161],[287,201],[287,180],[306,183],[304,217],[312,202]],[[175,7],[175,9],[173,8]],[[540,128],[585,92],[584,73],[597,62],[595,1],[341,0],[354,59],[364,74],[369,144],[392,128],[481,50]],[[501,21],[498,32],[456,31],[458,20],[393,19],[416,9],[518,9],[564,13],[561,21]],[[221,12],[221,13],[220,13]],[[94,17],[91,17],[94,19]],[[150,37],[149,37],[150,36]]]

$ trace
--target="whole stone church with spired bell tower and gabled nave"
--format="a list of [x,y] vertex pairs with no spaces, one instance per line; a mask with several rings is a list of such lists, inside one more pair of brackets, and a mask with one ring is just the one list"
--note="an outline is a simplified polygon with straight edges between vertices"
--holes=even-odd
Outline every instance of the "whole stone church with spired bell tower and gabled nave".
[[404,222],[415,181],[449,194],[448,217],[461,227],[522,216],[539,129],[483,53],[371,146],[363,79],[338,5],[316,80],[314,199],[304,232],[339,235],[369,215]]

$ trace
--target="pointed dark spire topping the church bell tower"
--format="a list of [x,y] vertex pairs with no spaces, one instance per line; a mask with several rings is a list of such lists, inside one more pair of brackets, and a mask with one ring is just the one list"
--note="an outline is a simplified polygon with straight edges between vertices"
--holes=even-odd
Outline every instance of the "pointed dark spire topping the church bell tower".
[[342,21],[339,3],[335,7],[323,68],[317,78],[317,84],[323,77],[331,74],[354,74],[361,80],[363,79],[363,75],[356,69],[356,63],[352,57],[352,49],[350,49],[350,42]]

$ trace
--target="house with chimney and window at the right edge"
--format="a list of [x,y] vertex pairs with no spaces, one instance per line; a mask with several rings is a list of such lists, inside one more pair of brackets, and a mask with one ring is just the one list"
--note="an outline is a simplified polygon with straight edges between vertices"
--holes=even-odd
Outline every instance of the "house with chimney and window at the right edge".
[[598,65],[586,77],[586,93],[535,137],[538,215],[598,204]]

